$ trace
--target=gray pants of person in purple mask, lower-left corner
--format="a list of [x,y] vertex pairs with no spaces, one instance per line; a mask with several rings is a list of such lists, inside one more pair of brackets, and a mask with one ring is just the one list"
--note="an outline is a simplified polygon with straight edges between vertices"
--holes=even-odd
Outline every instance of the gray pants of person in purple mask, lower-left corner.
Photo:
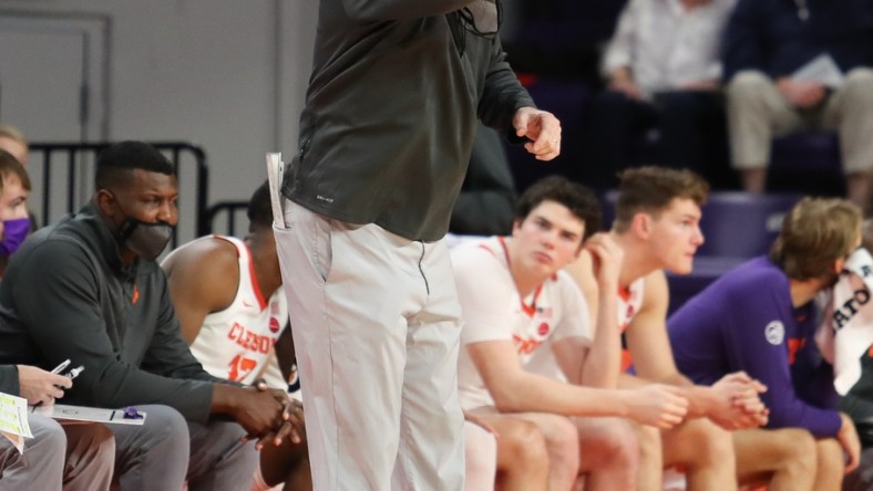
[[28,424],[33,438],[25,440],[23,455],[0,437],[0,490],[109,489],[115,441],[105,426],[62,426],[40,415],[29,415]]

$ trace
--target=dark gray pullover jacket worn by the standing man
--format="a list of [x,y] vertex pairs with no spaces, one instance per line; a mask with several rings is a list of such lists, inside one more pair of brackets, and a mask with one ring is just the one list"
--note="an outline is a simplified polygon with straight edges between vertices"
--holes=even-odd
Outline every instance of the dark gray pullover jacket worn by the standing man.
[[443,237],[476,118],[511,134],[515,111],[534,105],[500,39],[459,29],[453,12],[475,1],[320,1],[285,196],[411,240]]

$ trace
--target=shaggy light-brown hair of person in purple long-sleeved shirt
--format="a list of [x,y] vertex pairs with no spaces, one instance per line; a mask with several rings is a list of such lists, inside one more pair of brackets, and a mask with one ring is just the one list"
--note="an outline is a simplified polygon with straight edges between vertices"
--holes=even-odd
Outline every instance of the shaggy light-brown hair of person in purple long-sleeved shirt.
[[782,221],[770,259],[792,280],[833,272],[833,262],[857,245],[861,209],[835,198],[803,198]]

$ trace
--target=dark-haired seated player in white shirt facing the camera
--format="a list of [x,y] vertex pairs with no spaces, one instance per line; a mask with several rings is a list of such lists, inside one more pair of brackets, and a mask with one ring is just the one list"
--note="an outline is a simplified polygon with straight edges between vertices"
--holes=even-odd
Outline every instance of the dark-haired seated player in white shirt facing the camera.
[[[548,455],[548,489],[571,489],[579,473],[587,474],[586,490],[634,487],[633,430],[618,418],[590,417],[627,416],[669,428],[686,412],[687,401],[675,387],[615,389],[622,251],[603,233],[583,245],[586,234],[598,230],[599,213],[589,190],[562,177],[545,178],[520,199],[512,237],[452,251],[464,316],[462,405],[499,435],[504,424],[518,419],[536,425]],[[561,271],[579,253],[600,265],[597,280],[605,293],[594,334],[582,293]]]

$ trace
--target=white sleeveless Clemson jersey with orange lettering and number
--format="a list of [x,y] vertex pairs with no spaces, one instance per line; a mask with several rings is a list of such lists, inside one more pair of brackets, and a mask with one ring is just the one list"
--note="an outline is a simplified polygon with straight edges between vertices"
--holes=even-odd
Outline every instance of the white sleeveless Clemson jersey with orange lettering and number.
[[264,299],[255,280],[248,245],[233,237],[212,237],[236,247],[239,286],[227,309],[206,316],[191,352],[209,374],[251,384],[264,369],[270,349],[288,323],[285,294],[278,289],[269,299]]

